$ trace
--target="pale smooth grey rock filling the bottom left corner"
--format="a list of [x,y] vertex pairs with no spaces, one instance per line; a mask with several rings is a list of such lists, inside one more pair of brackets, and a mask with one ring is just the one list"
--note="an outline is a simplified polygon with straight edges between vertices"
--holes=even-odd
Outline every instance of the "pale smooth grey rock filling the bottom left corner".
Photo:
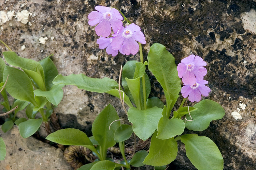
[[72,169],[63,157],[61,149],[52,147],[34,137],[22,138],[18,126],[1,137],[6,145],[6,156],[1,169]]

